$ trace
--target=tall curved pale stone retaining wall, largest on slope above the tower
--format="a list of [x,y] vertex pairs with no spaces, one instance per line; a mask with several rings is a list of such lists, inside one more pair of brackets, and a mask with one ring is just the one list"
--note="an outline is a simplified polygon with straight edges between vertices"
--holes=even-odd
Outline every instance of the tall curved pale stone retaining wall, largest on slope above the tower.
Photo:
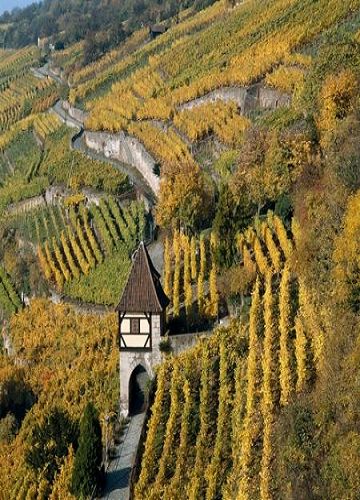
[[85,144],[89,149],[136,168],[144,177],[155,195],[159,193],[160,179],[154,172],[155,160],[140,141],[124,132],[84,132]]

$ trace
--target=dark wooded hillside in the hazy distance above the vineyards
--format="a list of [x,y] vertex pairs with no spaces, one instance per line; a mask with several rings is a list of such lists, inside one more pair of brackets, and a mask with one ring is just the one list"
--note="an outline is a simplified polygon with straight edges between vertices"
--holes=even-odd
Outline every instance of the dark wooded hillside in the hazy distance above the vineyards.
[[214,0],[49,0],[28,2],[0,16],[0,40],[6,48],[49,38],[57,48],[86,41],[84,63],[116,46],[144,24],[167,21],[184,9],[200,10]]

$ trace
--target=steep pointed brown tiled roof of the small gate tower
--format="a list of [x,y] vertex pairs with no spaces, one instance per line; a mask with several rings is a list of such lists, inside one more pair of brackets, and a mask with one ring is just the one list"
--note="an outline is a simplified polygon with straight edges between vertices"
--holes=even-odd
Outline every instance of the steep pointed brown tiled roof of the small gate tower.
[[160,313],[169,302],[160,283],[160,274],[142,241],[116,311]]

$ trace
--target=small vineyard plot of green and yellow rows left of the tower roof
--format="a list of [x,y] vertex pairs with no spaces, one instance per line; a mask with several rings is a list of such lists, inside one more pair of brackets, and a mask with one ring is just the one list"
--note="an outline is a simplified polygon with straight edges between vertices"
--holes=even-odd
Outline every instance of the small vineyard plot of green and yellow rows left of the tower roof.
[[[80,204],[77,208],[42,211],[36,219],[35,231],[39,264],[45,278],[57,290],[83,299],[89,293],[85,278],[96,287],[96,276],[101,274],[97,268],[108,272],[108,260],[113,255],[122,272],[108,279],[108,288],[114,282],[116,290],[121,290],[129,270],[129,256],[144,238],[145,212],[141,203],[122,208],[110,197],[90,208]],[[104,290],[93,299],[103,302],[104,293],[109,296]],[[115,302],[116,294],[110,296]]]

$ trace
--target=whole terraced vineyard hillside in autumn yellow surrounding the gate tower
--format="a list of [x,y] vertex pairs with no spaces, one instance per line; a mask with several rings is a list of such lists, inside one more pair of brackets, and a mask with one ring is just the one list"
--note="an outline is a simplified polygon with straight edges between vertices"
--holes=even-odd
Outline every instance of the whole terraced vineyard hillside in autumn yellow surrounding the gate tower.
[[86,65],[0,51],[0,498],[73,498],[70,442],[27,457],[59,408],[116,413],[95,305],[154,220],[169,331],[214,334],[164,354],[135,498],[357,498],[359,49],[359,0],[248,0]]

